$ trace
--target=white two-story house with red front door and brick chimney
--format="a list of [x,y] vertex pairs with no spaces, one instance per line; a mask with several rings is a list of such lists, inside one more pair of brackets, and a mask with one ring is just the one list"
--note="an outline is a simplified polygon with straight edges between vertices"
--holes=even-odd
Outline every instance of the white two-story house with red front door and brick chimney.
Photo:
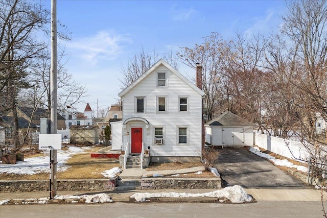
[[[197,83],[202,85],[202,72],[197,72],[201,79]],[[203,94],[160,59],[119,93],[122,150],[139,154],[150,149],[152,162],[200,161]]]

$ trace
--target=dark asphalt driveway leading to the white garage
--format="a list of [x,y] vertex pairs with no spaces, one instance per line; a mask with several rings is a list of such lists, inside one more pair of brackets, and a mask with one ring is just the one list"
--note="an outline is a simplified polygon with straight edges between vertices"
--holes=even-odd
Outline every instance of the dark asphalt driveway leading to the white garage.
[[266,159],[247,149],[221,149],[214,165],[224,186],[241,185],[243,188],[312,188],[287,174]]

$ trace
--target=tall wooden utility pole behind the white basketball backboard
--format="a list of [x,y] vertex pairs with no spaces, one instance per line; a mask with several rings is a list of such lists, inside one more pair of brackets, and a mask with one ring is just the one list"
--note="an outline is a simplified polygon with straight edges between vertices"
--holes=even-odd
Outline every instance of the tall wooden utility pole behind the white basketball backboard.
[[[51,134],[57,134],[57,0],[51,0]],[[57,195],[57,150],[50,150],[50,199]]]

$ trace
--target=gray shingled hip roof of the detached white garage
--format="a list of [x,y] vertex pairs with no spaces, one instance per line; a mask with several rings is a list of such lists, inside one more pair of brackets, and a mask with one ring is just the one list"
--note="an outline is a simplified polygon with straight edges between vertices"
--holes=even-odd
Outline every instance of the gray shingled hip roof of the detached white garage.
[[205,126],[253,126],[253,124],[236,114],[226,111],[207,122]]

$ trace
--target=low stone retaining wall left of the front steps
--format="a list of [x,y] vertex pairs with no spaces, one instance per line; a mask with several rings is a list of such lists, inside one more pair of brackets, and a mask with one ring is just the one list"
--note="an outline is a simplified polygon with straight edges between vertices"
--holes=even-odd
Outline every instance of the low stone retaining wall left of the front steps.
[[[87,191],[114,190],[117,178],[57,180],[57,190]],[[48,191],[50,180],[6,180],[0,181],[0,192]]]

